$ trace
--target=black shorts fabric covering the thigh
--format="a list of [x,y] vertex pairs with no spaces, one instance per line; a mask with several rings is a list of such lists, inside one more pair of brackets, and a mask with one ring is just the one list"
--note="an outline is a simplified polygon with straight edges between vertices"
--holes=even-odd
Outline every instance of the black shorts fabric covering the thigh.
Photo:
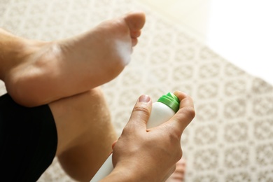
[[26,108],[9,94],[0,97],[1,181],[37,181],[56,151],[57,130],[48,105]]

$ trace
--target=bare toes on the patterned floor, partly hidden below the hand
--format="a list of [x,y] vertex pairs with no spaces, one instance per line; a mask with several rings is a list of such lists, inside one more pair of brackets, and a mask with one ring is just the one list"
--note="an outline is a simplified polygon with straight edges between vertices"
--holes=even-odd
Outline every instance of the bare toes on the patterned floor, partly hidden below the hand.
[[185,169],[186,169],[186,160],[181,158],[181,160],[179,160],[179,162],[176,163],[176,170],[171,176],[169,176],[169,179],[167,179],[166,182],[184,181]]

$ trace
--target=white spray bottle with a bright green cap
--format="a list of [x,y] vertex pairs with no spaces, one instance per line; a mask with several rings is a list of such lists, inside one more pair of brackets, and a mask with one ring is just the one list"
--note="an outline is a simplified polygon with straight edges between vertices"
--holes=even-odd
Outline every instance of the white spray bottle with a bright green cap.
[[[171,92],[162,95],[162,97],[158,99],[158,102],[153,103],[147,128],[156,127],[165,123],[167,120],[172,118],[177,111],[179,111],[179,99]],[[98,182],[108,176],[112,171],[113,163],[111,154],[90,182]]]

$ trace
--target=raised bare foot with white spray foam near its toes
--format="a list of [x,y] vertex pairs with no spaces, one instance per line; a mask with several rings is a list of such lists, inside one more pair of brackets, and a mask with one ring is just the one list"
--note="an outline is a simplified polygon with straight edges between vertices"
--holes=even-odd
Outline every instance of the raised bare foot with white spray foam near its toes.
[[116,78],[144,23],[144,13],[134,12],[62,41],[27,41],[24,59],[4,77],[8,93],[19,104],[38,106]]

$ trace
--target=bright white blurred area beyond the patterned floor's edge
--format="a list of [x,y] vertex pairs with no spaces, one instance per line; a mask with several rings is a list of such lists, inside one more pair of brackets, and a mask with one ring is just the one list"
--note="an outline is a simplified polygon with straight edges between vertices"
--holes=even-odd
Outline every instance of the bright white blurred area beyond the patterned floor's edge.
[[214,51],[273,83],[273,1],[141,0]]

